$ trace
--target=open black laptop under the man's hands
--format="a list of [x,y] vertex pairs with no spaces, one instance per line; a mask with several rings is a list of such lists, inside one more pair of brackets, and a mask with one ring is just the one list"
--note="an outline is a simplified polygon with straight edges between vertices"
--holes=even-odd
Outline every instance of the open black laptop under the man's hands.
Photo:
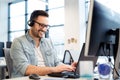
[[48,74],[48,76],[52,76],[52,77],[64,77],[64,78],[79,78],[80,75],[79,75],[79,61],[80,61],[80,58],[81,56],[84,54],[84,47],[85,47],[85,44],[83,44],[83,47],[82,47],[82,50],[81,50],[81,53],[79,55],[79,59],[78,59],[78,63],[77,63],[77,66],[76,66],[76,69],[75,71],[63,71],[63,72],[59,72],[59,73],[51,73],[51,74]]

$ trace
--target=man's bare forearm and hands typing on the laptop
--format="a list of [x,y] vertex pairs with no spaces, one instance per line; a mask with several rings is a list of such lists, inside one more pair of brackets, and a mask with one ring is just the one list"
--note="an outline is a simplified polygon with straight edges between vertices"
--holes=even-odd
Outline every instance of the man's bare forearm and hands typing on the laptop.
[[39,67],[39,66],[29,65],[26,69],[25,75],[30,75],[35,73],[44,76],[50,73],[62,72],[62,71],[74,71],[74,70],[75,67],[65,64],[56,67]]

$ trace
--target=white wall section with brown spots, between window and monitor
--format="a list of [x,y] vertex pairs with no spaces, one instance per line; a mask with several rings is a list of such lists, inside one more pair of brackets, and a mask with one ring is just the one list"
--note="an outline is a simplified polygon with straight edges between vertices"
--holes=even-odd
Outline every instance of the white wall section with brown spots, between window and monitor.
[[85,42],[85,0],[65,0],[65,49],[77,59]]

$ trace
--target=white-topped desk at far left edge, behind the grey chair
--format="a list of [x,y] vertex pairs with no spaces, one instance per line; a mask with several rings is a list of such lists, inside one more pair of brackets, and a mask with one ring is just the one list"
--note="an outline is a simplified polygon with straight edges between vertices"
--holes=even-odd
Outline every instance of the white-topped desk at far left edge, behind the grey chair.
[[5,57],[0,57],[0,80],[5,78],[6,61]]

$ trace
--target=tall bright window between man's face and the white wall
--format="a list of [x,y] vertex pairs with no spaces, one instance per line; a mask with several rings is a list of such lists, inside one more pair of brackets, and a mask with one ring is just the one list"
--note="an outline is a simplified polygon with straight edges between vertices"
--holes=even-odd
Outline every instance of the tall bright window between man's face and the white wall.
[[52,39],[54,46],[59,53],[60,58],[63,58],[64,53],[64,0],[48,0],[49,13],[49,36]]

